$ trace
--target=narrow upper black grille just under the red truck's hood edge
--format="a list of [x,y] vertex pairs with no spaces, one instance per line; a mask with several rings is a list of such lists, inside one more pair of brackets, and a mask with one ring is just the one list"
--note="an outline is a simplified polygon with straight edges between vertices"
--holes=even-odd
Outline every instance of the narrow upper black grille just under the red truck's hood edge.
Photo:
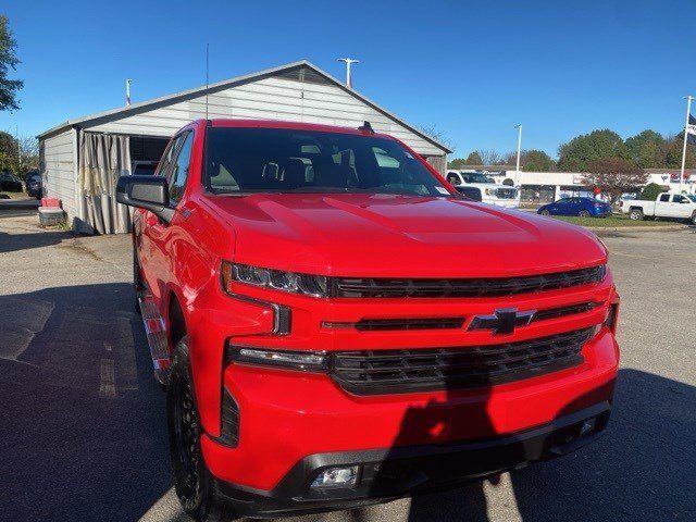
[[335,278],[335,297],[495,297],[515,294],[556,290],[572,286],[599,283],[607,273],[606,265],[570,272],[555,272],[520,277],[488,277],[470,279],[389,279]]

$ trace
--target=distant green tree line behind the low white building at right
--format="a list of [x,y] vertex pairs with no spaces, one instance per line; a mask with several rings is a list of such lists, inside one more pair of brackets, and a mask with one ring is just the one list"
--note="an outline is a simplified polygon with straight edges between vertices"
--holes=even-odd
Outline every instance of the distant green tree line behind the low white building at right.
[[[558,160],[543,150],[523,150],[520,169],[527,172],[596,172],[598,165],[611,170],[679,169],[682,165],[683,134],[662,136],[647,129],[622,139],[608,128],[574,137],[558,148]],[[598,163],[599,162],[599,163]],[[515,165],[517,153],[501,154],[495,150],[475,150],[467,158],[449,162],[450,169],[470,165]],[[696,147],[686,147],[686,169],[696,167]]]

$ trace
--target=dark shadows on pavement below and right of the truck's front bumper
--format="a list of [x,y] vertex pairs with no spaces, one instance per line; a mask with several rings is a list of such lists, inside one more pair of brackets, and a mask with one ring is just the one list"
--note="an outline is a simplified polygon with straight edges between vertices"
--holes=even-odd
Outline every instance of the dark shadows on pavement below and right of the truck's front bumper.
[[[623,369],[599,440],[509,475],[505,520],[696,520],[696,387]],[[414,497],[410,522],[488,521],[482,484]],[[517,508],[518,513],[514,513]]]

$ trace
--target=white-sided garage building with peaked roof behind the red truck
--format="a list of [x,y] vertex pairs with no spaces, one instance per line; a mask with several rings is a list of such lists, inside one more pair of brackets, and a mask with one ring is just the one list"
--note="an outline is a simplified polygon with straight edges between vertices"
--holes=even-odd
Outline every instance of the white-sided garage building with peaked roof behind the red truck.
[[[79,232],[127,232],[116,178],[159,160],[166,140],[206,117],[286,120],[358,127],[369,121],[445,172],[450,150],[320,70],[300,61],[120,109],[69,120],[38,136],[45,196]],[[138,162],[138,163],[136,163]]]

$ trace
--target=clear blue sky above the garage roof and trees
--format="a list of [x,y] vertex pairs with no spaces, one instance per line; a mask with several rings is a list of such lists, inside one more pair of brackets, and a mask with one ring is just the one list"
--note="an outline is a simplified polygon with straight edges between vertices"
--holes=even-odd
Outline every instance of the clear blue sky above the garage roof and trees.
[[[39,2],[10,0],[22,109],[0,129],[70,117],[308,59],[418,126],[455,157],[515,147],[556,156],[580,133],[674,133],[696,95],[696,2]],[[691,35],[689,35],[691,33]],[[696,111],[695,111],[696,112]]]

